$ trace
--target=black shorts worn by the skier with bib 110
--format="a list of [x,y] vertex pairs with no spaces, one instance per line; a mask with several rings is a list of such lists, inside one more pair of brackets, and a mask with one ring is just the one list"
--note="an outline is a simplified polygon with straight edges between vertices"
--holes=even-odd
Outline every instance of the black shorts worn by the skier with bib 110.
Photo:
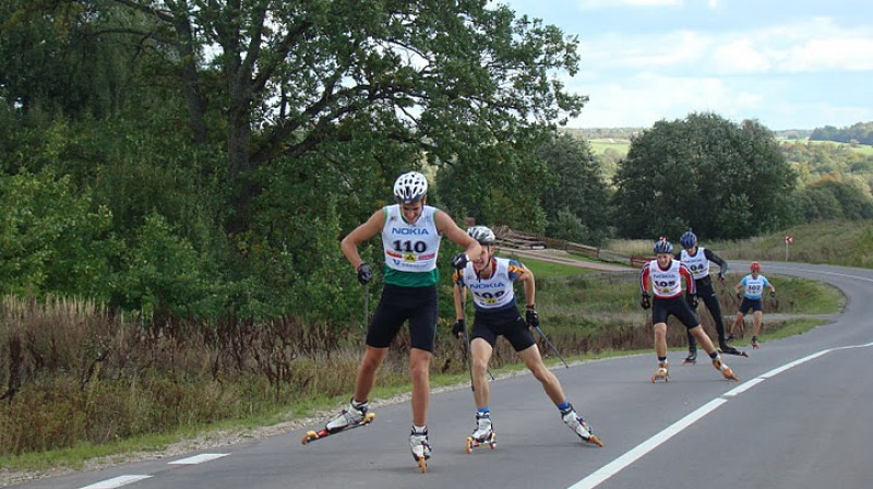
[[367,329],[367,346],[387,348],[409,320],[412,348],[433,351],[438,317],[436,286],[400,287],[385,284],[382,299]]

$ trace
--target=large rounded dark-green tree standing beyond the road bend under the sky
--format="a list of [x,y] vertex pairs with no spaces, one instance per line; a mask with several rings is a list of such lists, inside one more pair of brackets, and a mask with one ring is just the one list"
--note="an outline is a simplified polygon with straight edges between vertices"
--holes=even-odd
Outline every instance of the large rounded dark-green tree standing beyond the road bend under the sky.
[[685,228],[737,239],[786,224],[796,175],[772,131],[715,114],[659,121],[632,140],[614,177],[622,235],[675,239]]

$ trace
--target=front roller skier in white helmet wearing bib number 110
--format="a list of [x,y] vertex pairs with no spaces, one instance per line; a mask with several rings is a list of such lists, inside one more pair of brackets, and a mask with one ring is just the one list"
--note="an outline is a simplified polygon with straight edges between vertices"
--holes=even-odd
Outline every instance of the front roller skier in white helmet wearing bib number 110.
[[441,237],[446,236],[465,250],[452,258],[455,267],[465,266],[467,257],[481,253],[481,246],[449,214],[427,205],[427,193],[428,180],[423,175],[416,171],[400,175],[394,183],[396,203],[375,211],[340,242],[343,254],[357,271],[358,282],[366,285],[372,277],[372,270],[358,254],[358,246],[381,235],[385,285],[367,330],[366,350],[356,375],[355,393],[348,406],[327,421],[323,430],[332,434],[364,424],[376,371],[400,326],[408,320],[412,384],[409,448],[422,473],[427,472],[427,460],[431,455],[427,414],[430,359],[436,333],[440,278],[436,257]]

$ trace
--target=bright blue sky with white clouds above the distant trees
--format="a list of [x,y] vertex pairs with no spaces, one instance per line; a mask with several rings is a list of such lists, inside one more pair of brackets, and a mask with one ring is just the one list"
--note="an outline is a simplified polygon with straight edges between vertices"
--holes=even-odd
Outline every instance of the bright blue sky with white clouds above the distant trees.
[[714,112],[774,131],[873,121],[871,0],[499,0],[579,43],[570,128]]

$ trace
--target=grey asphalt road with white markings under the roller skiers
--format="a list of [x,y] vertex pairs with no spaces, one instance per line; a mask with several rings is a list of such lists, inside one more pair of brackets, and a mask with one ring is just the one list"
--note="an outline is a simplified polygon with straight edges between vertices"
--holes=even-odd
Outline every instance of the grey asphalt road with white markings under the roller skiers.
[[409,405],[402,403],[378,408],[371,426],[307,446],[300,439],[316,426],[15,487],[873,487],[873,271],[764,263],[764,274],[832,283],[847,295],[846,309],[833,323],[774,342],[765,315],[762,348],[726,357],[740,382],[722,380],[708,361],[682,366],[679,351],[670,356],[669,383],[649,382],[654,353],[555,369],[603,448],[581,442],[525,374],[491,384],[493,451],[465,453],[475,413],[468,387],[432,396],[428,474],[409,454]]

